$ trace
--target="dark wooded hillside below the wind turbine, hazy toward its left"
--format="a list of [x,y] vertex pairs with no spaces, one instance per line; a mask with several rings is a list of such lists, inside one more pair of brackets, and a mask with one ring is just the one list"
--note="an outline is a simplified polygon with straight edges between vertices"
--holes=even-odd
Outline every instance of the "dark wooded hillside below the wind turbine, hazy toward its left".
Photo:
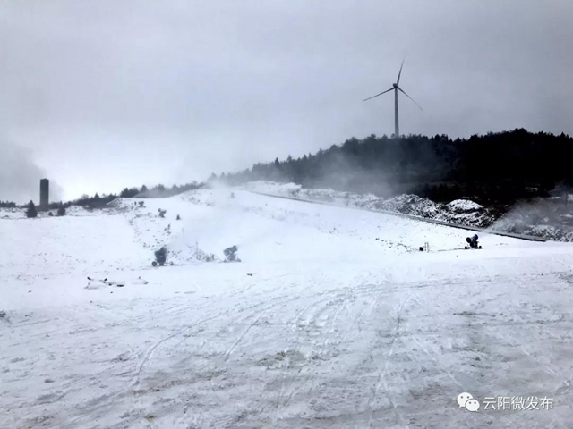
[[547,196],[557,184],[573,184],[573,139],[523,129],[449,139],[410,135],[400,139],[347,139],[285,161],[254,164],[233,174],[211,175],[227,184],[292,181],[306,188],[372,192],[381,197],[415,193],[435,201],[471,198],[510,204]]

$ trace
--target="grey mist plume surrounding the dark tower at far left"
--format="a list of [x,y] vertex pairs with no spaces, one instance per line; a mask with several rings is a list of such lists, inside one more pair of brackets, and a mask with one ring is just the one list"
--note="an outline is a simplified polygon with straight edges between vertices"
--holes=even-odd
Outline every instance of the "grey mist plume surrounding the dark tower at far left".
[[[30,200],[39,202],[39,181],[49,179],[33,159],[30,149],[15,146],[5,141],[0,144],[0,200],[19,204]],[[61,201],[62,189],[50,180],[50,201]]]

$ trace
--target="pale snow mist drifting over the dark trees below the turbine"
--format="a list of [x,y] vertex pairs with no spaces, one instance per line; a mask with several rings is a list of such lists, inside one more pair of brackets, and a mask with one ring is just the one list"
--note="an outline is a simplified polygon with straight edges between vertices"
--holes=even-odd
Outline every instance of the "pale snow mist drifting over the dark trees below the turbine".
[[450,172],[448,159],[437,149],[447,139],[437,136],[429,140],[415,135],[348,139],[339,147],[333,145],[309,157],[255,164],[250,171],[224,176],[223,181],[295,182],[304,188],[372,193],[378,197],[420,195],[430,189],[428,183],[444,181]]

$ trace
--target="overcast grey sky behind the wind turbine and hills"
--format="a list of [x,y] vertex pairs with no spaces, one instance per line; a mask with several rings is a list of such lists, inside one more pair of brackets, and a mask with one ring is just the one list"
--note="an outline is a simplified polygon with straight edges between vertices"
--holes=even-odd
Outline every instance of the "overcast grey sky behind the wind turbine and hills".
[[37,199],[42,175],[77,198],[390,135],[392,93],[362,100],[404,57],[424,109],[399,98],[404,134],[573,135],[572,22],[570,0],[4,0],[0,199]]

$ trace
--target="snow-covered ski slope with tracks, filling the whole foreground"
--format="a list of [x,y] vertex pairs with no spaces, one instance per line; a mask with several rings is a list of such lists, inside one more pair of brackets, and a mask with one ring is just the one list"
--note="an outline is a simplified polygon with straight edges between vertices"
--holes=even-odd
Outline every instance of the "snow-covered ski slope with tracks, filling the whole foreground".
[[570,427],[571,245],[229,192],[0,219],[1,428]]

